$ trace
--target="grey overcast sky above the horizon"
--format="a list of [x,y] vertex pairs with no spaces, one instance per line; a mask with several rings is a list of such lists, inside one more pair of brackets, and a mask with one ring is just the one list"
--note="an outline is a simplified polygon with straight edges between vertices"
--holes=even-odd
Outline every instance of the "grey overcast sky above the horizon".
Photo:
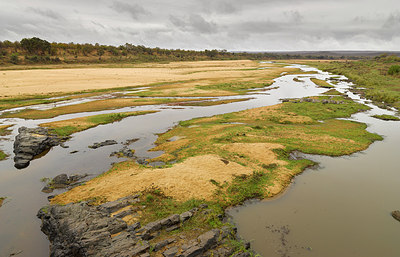
[[400,50],[400,0],[0,0],[0,40]]

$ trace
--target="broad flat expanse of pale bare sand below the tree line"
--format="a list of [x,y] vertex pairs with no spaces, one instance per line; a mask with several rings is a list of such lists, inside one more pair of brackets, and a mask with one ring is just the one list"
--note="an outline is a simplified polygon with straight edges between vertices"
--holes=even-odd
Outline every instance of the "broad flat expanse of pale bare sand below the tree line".
[[[260,65],[254,61],[240,60],[153,63],[134,68],[9,70],[0,72],[0,97],[70,93],[185,80],[240,78],[262,72],[248,70]],[[271,64],[262,64],[267,65]]]

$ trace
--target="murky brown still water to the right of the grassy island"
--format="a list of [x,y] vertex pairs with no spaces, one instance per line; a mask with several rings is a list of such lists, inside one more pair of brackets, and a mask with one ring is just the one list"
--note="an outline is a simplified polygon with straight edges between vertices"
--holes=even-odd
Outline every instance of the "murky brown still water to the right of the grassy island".
[[370,106],[352,120],[367,123],[383,141],[351,156],[306,155],[319,168],[297,176],[274,199],[229,212],[261,256],[400,256],[400,224],[390,215],[400,209],[400,122],[370,117],[391,113]]

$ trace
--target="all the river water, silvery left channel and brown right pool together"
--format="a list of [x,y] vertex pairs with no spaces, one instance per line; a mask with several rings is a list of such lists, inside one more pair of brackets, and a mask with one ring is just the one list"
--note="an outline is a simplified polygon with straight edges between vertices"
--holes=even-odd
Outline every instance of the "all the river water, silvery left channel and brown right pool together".
[[[40,231],[41,221],[36,218],[37,211],[48,204],[49,194],[41,192],[44,186],[41,178],[52,178],[61,173],[97,176],[107,171],[113,162],[123,160],[110,157],[110,153],[120,150],[130,139],[138,139],[129,144],[131,149],[135,149],[137,158],[158,156],[160,152],[148,151],[154,146],[157,134],[179,121],[274,105],[284,98],[315,96],[327,91],[316,87],[310,81],[311,77],[324,80],[335,77],[339,79],[335,85],[338,91],[365,102],[349,91],[351,84],[343,76],[303,65],[293,67],[318,73],[282,75],[268,87],[270,90],[215,98],[251,98],[244,102],[206,107],[140,106],[62,115],[46,120],[0,119],[1,124],[14,125],[12,134],[0,140],[0,148],[10,155],[9,159],[0,161],[0,196],[7,197],[0,208],[0,256],[48,256],[49,242]],[[294,81],[295,77],[302,82]],[[382,135],[383,141],[351,156],[304,156],[318,162],[318,167],[297,176],[284,193],[274,199],[248,202],[229,211],[239,235],[250,241],[260,255],[400,256],[400,223],[390,216],[391,211],[400,209],[400,122],[372,118],[374,114],[395,113],[368,105],[372,107],[370,111],[355,114],[351,119],[367,123],[368,130]],[[159,112],[76,133],[65,143],[68,148],[54,147],[22,170],[13,166],[13,142],[21,126],[35,127],[44,122],[137,110]],[[119,144],[88,148],[106,139],[116,140]],[[74,151],[78,152],[72,154]]]

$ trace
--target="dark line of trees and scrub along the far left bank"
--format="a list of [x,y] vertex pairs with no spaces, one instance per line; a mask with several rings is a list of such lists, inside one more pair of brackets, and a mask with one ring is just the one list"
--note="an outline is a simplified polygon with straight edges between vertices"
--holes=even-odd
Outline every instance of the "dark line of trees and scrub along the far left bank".
[[[274,53],[228,52],[226,50],[184,50],[150,48],[126,43],[120,46],[48,42],[38,37],[21,41],[0,41],[0,65],[37,63],[135,63],[162,61],[237,59],[333,59],[331,56],[303,56]],[[337,58],[337,57],[336,57]],[[344,58],[344,57],[343,57]]]

